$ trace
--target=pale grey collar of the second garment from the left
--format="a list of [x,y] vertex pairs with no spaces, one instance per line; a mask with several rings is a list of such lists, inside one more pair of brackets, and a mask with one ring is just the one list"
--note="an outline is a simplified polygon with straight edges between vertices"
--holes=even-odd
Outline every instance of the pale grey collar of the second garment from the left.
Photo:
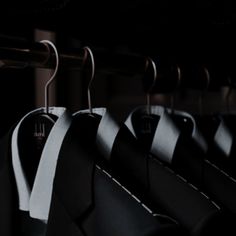
[[[89,110],[78,111],[74,115],[82,113],[89,113]],[[93,113],[101,116],[96,136],[97,147],[101,154],[109,160],[113,144],[119,132],[119,125],[106,108],[93,108]]]

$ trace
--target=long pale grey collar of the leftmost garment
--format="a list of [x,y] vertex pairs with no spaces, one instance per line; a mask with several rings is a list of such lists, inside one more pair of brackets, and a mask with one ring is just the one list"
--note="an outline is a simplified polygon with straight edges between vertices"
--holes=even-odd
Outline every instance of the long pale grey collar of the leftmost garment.
[[69,112],[63,107],[50,107],[49,113],[58,116],[45,143],[32,191],[30,191],[25,177],[18,147],[18,133],[22,122],[29,116],[45,112],[45,108],[39,108],[26,114],[15,127],[12,140],[12,163],[19,194],[19,209],[29,211],[32,218],[47,221],[53,179],[55,175],[57,158],[64,136],[71,124]]

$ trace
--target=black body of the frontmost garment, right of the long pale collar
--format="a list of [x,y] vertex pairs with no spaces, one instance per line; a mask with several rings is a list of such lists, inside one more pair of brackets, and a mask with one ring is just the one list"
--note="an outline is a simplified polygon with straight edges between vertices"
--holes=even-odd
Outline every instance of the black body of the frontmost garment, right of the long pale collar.
[[[172,221],[154,217],[95,165],[97,119],[78,115],[59,156],[48,235],[174,235]],[[94,132],[95,131],[95,132]]]

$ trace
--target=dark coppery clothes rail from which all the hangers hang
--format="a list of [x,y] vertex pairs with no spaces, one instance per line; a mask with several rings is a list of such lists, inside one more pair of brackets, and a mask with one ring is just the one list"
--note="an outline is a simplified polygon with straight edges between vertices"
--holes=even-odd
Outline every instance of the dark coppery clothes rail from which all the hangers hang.
[[[106,49],[91,48],[95,58],[96,73],[115,73],[135,75],[144,79],[144,90],[152,81],[147,80],[145,73],[146,57],[137,53],[117,52]],[[58,48],[60,67],[65,69],[82,69],[84,50]],[[154,58],[157,67],[157,80],[152,93],[173,92],[180,88],[211,89],[222,86],[234,86],[234,76],[230,77],[227,70],[218,73],[217,67],[208,65],[186,66],[176,61]],[[163,63],[160,63],[163,62]],[[42,43],[29,43],[24,40],[6,40],[0,35],[0,68],[54,68],[55,54]],[[86,68],[86,67],[83,67]],[[178,70],[179,69],[179,70]],[[180,72],[180,73],[179,73]],[[217,72],[217,73],[216,73]],[[152,73],[149,73],[152,76]],[[208,78],[209,77],[209,78]]]

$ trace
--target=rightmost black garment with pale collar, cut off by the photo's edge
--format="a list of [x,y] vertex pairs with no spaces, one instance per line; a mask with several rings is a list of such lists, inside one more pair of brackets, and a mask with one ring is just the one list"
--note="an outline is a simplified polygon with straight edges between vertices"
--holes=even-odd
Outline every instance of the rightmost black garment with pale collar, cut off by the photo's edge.
[[236,125],[234,115],[196,117],[208,142],[207,158],[220,169],[236,178]]

